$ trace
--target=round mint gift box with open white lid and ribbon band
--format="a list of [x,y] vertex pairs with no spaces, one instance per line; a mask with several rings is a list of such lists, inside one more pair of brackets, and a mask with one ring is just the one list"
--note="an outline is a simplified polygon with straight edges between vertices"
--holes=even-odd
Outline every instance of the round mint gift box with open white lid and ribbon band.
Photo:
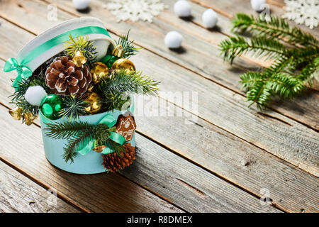
[[[85,35],[88,40],[93,41],[96,46],[96,61],[101,60],[106,56],[107,52],[111,52],[114,48],[111,36],[108,34],[103,22],[98,18],[82,17],[65,21],[48,29],[47,31],[44,31],[43,33],[40,33],[40,35],[37,35],[33,38],[33,40],[30,40],[30,42],[20,50],[20,52],[18,52],[16,59],[11,59],[11,65],[7,72],[12,70],[17,70],[17,72],[19,72],[18,77],[16,77],[13,82],[13,87],[16,87],[18,82],[21,82],[21,79],[28,79],[28,77],[32,75],[30,72],[34,72],[38,67],[40,67],[40,65],[49,60],[51,57],[54,57],[64,51],[65,42],[69,40],[69,35],[72,35],[72,37]],[[133,99],[131,100],[133,101]],[[127,109],[126,111],[130,111],[133,114],[133,106],[134,101],[132,102],[130,109]],[[117,119],[118,116],[124,113],[118,110],[113,110],[101,114],[80,116],[79,121],[96,125],[108,114],[111,114],[113,118]],[[67,140],[57,140],[47,137],[45,135],[44,128],[47,123],[62,123],[64,121],[69,121],[69,119],[60,118],[57,120],[50,120],[43,116],[41,111],[39,111],[39,115],[45,156],[52,165],[55,165],[67,172],[77,174],[96,174],[106,172],[106,169],[102,165],[103,158],[101,153],[96,153],[93,150],[86,153],[86,155],[77,155],[77,157],[74,158],[73,163],[66,163],[62,155],[64,153],[63,148],[66,146]],[[135,135],[133,135],[133,139],[127,143],[131,143],[132,146],[135,146]]]

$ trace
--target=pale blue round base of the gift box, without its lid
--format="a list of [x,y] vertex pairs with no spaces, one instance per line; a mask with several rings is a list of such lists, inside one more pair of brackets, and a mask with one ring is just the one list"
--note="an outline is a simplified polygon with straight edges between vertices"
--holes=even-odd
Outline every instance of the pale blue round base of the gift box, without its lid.
[[[130,111],[128,109],[128,111]],[[133,111],[131,111],[133,113]],[[39,114],[42,115],[41,111]],[[89,124],[96,125],[101,121],[101,119],[106,116],[106,114],[112,114],[114,118],[118,118],[121,114],[123,114],[121,111],[113,110],[101,114],[94,114],[89,116],[80,116],[79,121],[86,121]],[[41,118],[45,118],[45,116],[41,116]],[[40,119],[41,119],[40,118]],[[68,121],[67,118],[60,118],[57,120],[49,120],[45,118],[47,122],[49,123],[62,123],[64,121]],[[45,157],[47,157],[47,160],[56,167],[60,168],[61,170],[65,170],[67,172],[73,172],[77,174],[82,175],[90,175],[90,174],[96,174],[101,172],[106,172],[106,169],[102,165],[103,158],[101,153],[96,153],[94,150],[91,150],[86,155],[80,155],[78,154],[77,157],[74,158],[74,162],[65,162],[62,155],[64,153],[63,148],[67,144],[67,140],[56,140],[49,138],[45,135],[45,131],[43,128],[45,128],[47,123],[43,122],[41,120],[41,128],[42,128],[42,138],[43,138],[43,146],[45,150]],[[131,143],[133,147],[135,147],[135,133],[133,135],[133,139],[128,141],[128,143]]]

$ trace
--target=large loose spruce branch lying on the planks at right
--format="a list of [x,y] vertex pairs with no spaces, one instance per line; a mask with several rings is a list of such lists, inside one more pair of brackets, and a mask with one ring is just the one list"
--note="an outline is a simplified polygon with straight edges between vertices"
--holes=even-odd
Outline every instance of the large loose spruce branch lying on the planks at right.
[[[262,72],[247,72],[240,76],[242,89],[247,90],[247,101],[259,109],[267,106],[274,96],[292,99],[318,79],[318,40],[299,28],[290,28],[284,19],[264,18],[238,13],[233,30],[252,31],[252,38],[230,37],[220,43],[224,60],[233,63],[235,57],[246,53],[273,60]],[[250,105],[251,105],[250,104]]]

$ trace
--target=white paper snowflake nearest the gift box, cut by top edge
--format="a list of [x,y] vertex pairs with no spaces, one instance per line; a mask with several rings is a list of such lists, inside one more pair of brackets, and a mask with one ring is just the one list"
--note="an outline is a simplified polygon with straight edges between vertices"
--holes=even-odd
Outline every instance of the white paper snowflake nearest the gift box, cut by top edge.
[[118,22],[142,20],[152,23],[154,16],[167,9],[160,0],[112,0],[103,7],[111,11]]

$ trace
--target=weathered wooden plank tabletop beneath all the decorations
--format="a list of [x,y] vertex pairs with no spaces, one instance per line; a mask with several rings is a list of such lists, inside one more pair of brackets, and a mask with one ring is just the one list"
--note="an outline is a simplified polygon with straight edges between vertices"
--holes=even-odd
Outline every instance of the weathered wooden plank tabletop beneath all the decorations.
[[[162,91],[198,92],[198,112],[182,110],[184,106],[170,100],[184,116],[137,116],[138,157],[131,167],[119,175],[72,175],[45,160],[38,121],[20,126],[6,114],[12,107],[9,78],[15,75],[1,72],[1,128],[6,129],[0,132],[2,161],[23,170],[42,187],[55,187],[59,199],[72,204],[55,210],[72,211],[75,206],[74,211],[97,212],[318,211],[318,92],[312,89],[306,96],[277,102],[259,113],[254,106],[247,107],[238,81],[243,72],[269,62],[243,56],[231,67],[218,52],[220,40],[231,35],[230,18],[238,11],[252,13],[249,2],[237,1],[239,8],[234,8],[225,1],[192,1],[193,18],[181,20],[172,12],[174,1],[164,0],[169,9],[153,23],[116,23],[103,2],[93,0],[91,10],[81,13],[71,1],[1,0],[0,43],[8,45],[1,45],[0,67],[47,28],[69,18],[95,16],[115,39],[131,28],[130,38],[143,48],[132,58],[135,66],[162,81]],[[269,3],[273,13],[282,13],[280,4]],[[48,4],[57,5],[57,21],[47,20]],[[206,8],[219,13],[217,29],[201,26]],[[164,35],[171,30],[184,36],[179,52],[164,47]],[[317,35],[318,29],[311,32]],[[166,97],[159,94],[156,99]],[[172,109],[167,106],[165,111]],[[194,119],[196,124],[185,123]],[[39,136],[26,138],[30,134]],[[18,138],[20,142],[13,144]],[[25,149],[32,155],[21,152]],[[272,206],[260,204],[262,189],[269,190]],[[46,209],[40,208],[34,211]]]

